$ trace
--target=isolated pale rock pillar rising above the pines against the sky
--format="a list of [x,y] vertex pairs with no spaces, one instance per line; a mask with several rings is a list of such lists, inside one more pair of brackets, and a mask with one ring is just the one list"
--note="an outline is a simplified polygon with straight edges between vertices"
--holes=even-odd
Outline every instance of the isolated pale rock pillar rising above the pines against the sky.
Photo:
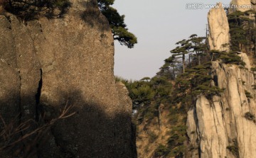
[[228,18],[222,4],[220,8],[211,9],[208,13],[209,36],[208,45],[210,50],[229,50],[229,26]]

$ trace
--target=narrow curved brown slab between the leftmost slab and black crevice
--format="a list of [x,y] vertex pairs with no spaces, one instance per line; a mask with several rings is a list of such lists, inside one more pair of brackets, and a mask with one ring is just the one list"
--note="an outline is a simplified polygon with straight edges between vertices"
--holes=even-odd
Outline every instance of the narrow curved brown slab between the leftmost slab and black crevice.
[[10,16],[9,18],[14,38],[16,62],[21,79],[21,119],[28,120],[36,118],[35,97],[38,93],[38,83],[41,78],[40,65],[28,29],[15,16]]

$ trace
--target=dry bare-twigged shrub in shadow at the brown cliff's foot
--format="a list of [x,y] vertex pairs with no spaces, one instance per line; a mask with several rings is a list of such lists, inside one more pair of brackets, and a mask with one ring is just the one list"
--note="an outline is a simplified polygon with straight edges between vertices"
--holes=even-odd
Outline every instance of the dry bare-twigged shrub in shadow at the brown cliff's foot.
[[[20,115],[18,115],[11,123],[6,124],[6,121],[0,115],[0,153],[12,152],[16,156],[23,154],[24,157],[33,157],[37,152],[35,147],[48,141],[46,133],[50,127],[58,120],[69,118],[75,114],[75,112],[70,113],[71,108],[73,106],[68,106],[67,103],[57,118],[53,118],[48,123],[38,125],[33,130],[29,130],[31,125],[39,124],[33,119],[19,123]],[[23,147],[23,142],[29,142],[29,144]]]

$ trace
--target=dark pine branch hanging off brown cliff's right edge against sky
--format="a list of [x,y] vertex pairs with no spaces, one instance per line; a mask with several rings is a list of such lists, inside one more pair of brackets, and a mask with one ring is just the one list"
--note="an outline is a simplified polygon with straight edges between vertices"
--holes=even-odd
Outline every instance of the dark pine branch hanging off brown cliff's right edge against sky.
[[127,25],[124,23],[124,15],[120,16],[117,9],[112,8],[112,4],[114,4],[114,0],[98,0],[100,11],[110,23],[114,40],[132,48],[137,43],[137,38],[128,31]]

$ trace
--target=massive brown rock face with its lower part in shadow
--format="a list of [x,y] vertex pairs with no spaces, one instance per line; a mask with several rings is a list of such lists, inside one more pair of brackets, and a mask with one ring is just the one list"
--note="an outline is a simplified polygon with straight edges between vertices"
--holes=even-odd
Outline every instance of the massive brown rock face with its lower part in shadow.
[[43,124],[72,105],[75,115],[51,127],[38,157],[135,157],[132,102],[114,81],[110,26],[96,1],[71,2],[61,18],[0,15],[0,114],[6,123],[21,113],[21,122]]

